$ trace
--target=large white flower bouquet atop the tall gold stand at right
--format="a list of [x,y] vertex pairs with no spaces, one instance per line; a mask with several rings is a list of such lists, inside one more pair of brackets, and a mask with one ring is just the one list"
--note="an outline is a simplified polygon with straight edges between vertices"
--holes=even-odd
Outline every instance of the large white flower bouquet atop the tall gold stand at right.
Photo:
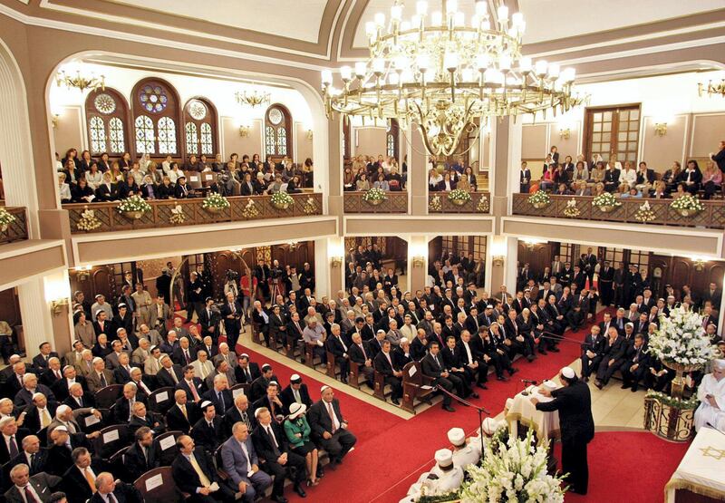
[[682,306],[672,309],[669,318],[660,317],[660,328],[650,337],[648,351],[662,362],[695,367],[713,357],[702,316]]

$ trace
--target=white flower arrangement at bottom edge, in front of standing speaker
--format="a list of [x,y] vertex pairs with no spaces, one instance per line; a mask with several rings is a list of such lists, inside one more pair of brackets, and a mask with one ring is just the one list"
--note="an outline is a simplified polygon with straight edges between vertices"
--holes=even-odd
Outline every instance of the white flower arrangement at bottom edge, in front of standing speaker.
[[529,430],[526,439],[494,437],[484,441],[481,466],[469,467],[470,480],[460,490],[463,503],[564,501],[562,477],[547,472],[547,445],[536,445]]

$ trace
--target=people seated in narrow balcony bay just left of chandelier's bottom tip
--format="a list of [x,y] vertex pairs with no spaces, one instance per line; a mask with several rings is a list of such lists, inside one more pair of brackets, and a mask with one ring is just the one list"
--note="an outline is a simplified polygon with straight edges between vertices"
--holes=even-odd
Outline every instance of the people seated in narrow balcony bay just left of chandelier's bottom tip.
[[345,191],[364,191],[381,189],[386,192],[400,192],[405,189],[408,175],[408,156],[402,161],[392,156],[363,156],[353,159],[352,164],[343,171],[343,189]]

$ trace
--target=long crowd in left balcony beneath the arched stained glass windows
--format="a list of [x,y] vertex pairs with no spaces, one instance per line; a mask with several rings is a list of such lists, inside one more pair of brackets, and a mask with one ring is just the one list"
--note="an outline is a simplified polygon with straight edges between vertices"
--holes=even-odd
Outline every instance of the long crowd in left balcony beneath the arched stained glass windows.
[[62,203],[91,203],[116,201],[131,196],[150,199],[183,199],[206,195],[209,191],[222,196],[255,196],[287,192],[295,194],[312,186],[313,161],[295,164],[284,157],[275,160],[259,154],[251,158],[237,153],[227,161],[218,154],[214,160],[207,156],[190,155],[179,166],[172,156],[157,162],[149,154],[131,160],[124,153],[119,160],[109,160],[103,153],[92,159],[88,150],[80,157],[78,150],[69,149],[63,159],[56,153],[58,193]]

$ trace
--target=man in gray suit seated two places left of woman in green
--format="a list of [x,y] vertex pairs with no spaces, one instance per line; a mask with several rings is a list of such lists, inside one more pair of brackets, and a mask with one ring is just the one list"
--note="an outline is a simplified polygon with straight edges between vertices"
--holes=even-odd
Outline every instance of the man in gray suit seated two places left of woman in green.
[[269,475],[259,469],[256,451],[244,422],[239,421],[232,427],[232,437],[222,444],[221,459],[229,479],[244,495],[245,502],[254,503],[256,495],[264,495],[266,488],[272,485]]

